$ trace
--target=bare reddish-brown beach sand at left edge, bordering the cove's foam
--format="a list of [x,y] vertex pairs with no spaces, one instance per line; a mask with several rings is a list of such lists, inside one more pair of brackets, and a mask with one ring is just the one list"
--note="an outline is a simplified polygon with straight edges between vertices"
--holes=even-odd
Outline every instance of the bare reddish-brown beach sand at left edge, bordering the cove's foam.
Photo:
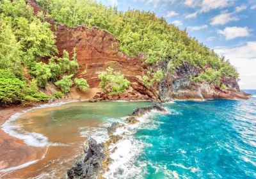
[[[11,107],[0,109],[0,126],[13,114],[20,113],[29,107]],[[6,134],[0,129],[0,176],[6,168],[20,166],[40,158],[45,148],[26,145],[22,140]]]

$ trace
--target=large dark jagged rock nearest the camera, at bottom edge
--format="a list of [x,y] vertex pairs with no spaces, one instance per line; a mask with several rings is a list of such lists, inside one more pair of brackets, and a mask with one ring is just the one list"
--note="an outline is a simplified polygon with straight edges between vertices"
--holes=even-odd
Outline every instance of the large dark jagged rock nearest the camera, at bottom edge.
[[84,144],[84,155],[67,171],[68,178],[98,178],[102,175],[102,164],[106,160],[104,143],[97,144],[94,139],[88,139]]

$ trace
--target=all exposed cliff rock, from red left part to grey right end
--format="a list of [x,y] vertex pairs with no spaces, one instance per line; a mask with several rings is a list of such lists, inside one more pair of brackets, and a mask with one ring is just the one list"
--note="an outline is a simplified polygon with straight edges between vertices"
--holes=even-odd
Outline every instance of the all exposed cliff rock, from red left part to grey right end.
[[[34,1],[29,1],[35,13],[42,11]],[[142,79],[147,71],[156,72],[159,69],[168,72],[168,60],[160,61],[158,65],[147,66],[139,57],[129,57],[124,52],[119,51],[118,40],[108,33],[98,28],[88,28],[84,26],[66,27],[55,26],[54,20],[47,19],[56,35],[56,46],[59,55],[63,55],[66,50],[72,56],[74,48],[77,52],[77,62],[79,70],[75,77],[84,78],[90,84],[87,92],[79,91],[72,87],[68,98],[95,100],[161,100],[166,102],[172,99],[195,99],[202,100],[208,98],[248,98],[246,93],[239,90],[236,79],[221,79],[221,82],[228,86],[228,90],[223,90],[207,82],[195,84],[189,80],[189,76],[196,76],[202,70],[196,66],[189,66],[183,63],[176,68],[172,74],[167,73],[159,84],[153,87],[146,87]],[[47,59],[44,59],[47,62]],[[131,81],[130,88],[124,94],[109,96],[99,89],[98,75],[110,66],[116,71],[124,74],[125,78]],[[52,89],[51,91],[54,91]],[[49,90],[48,90],[49,91]]]

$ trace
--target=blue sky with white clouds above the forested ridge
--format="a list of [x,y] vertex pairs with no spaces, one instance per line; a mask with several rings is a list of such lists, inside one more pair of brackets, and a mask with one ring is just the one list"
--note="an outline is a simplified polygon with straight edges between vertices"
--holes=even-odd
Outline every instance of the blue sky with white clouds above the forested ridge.
[[230,60],[241,89],[256,89],[256,0],[98,0],[155,12]]

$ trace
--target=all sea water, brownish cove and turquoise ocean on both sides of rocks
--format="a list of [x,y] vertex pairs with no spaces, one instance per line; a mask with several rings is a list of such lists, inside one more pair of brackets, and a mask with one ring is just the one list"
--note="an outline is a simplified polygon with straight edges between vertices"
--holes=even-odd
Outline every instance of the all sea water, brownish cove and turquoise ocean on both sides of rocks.
[[[256,90],[250,100],[175,101],[120,128],[106,178],[256,178]],[[0,178],[65,178],[86,137],[108,139],[106,128],[150,102],[75,102],[17,114],[3,125],[24,143],[45,148],[35,163]],[[31,135],[33,134],[33,135]]]

